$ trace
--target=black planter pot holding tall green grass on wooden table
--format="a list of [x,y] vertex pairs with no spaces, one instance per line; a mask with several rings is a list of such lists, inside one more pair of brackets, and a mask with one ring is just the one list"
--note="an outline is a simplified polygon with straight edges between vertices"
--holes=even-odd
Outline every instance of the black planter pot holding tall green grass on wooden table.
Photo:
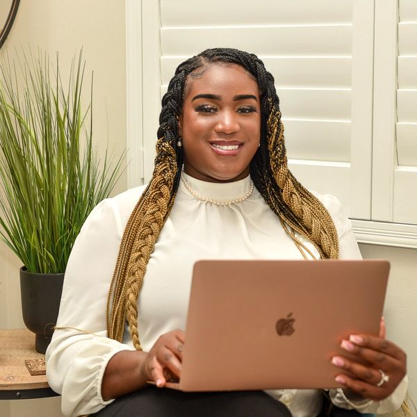
[[20,294],[26,327],[35,333],[35,350],[44,353],[58,318],[64,274],[36,274],[20,268]]

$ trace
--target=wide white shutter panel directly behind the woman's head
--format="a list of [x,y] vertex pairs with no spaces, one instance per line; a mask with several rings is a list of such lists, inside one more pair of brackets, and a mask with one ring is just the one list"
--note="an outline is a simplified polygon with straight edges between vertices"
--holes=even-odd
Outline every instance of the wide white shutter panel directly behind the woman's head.
[[[336,195],[352,217],[370,219],[373,1],[161,0],[161,94],[182,60],[209,47],[264,60],[291,170],[307,188]],[[361,59],[352,66],[354,54]]]

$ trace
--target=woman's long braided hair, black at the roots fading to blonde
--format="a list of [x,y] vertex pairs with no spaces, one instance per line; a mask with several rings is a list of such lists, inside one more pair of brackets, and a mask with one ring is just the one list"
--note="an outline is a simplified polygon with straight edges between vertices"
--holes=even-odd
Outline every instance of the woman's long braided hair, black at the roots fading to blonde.
[[[338,258],[334,222],[322,203],[288,170],[284,126],[274,78],[254,54],[238,49],[206,49],[177,67],[162,99],[152,179],[126,224],[107,302],[108,336],[122,341],[129,323],[133,345],[138,336],[137,302],[149,257],[170,214],[181,178],[183,149],[179,147],[179,115],[188,91],[189,76],[201,76],[208,65],[240,65],[256,79],[261,92],[261,140],[250,164],[254,185],[303,253],[307,248],[295,232],[309,240],[322,258]],[[311,252],[309,252],[311,254]]]

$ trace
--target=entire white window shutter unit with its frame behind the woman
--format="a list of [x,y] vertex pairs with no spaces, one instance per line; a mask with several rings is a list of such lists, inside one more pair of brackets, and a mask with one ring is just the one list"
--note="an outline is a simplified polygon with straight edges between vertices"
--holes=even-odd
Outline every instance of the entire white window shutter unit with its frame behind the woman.
[[143,145],[132,147],[131,186],[138,172],[152,176],[161,95],[177,65],[237,47],[275,76],[295,176],[341,199],[360,242],[417,247],[416,0],[133,2],[140,28],[126,7],[127,80],[140,103],[128,122],[142,129],[128,129],[128,144],[137,131]]

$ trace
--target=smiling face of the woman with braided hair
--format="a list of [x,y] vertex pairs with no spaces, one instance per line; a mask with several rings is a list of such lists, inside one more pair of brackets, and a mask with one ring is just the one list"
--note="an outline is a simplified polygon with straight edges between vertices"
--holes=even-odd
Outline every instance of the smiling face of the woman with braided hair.
[[189,77],[179,134],[186,174],[210,182],[247,177],[261,135],[258,84],[234,64]]

